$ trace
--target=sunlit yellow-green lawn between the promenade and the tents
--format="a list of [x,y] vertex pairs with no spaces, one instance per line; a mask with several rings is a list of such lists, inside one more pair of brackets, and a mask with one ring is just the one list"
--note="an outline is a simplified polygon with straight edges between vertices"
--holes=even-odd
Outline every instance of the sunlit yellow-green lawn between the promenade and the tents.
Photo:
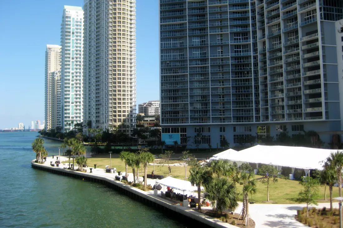
[[[178,157],[180,155],[176,155]],[[117,168],[117,171],[125,172],[125,164],[119,158],[118,154],[113,154],[112,156],[112,167]],[[177,162],[177,161],[175,161]],[[173,162],[174,163],[174,162]],[[89,167],[94,167],[93,164],[97,164],[98,168],[105,168],[106,165],[109,165],[109,156],[108,155],[97,155],[97,157],[92,157],[87,159],[87,164]],[[153,166],[148,166],[148,174],[151,174]],[[128,167],[128,172],[132,173],[132,169]],[[144,175],[139,169],[139,175]],[[168,166],[160,165],[156,161],[155,164],[155,175],[168,176]],[[185,168],[184,166],[171,166],[171,176],[184,179],[185,178]],[[189,177],[189,169],[187,169],[187,177]],[[256,175],[256,178],[261,178],[261,176]],[[237,186],[238,190],[241,191],[241,186]],[[281,203],[281,204],[294,204],[295,199],[297,198],[298,192],[301,191],[301,185],[299,181],[296,180],[284,180],[279,179],[276,183],[270,183],[269,186],[269,203]],[[267,201],[267,184],[263,184],[260,181],[257,183],[258,192],[252,195],[252,201],[256,203],[268,203]],[[333,197],[338,197],[338,187],[333,188]],[[249,201],[251,195],[249,194]],[[327,199],[329,199],[329,188],[327,187]],[[319,201],[320,203],[329,202],[324,201],[324,186],[320,186]]]

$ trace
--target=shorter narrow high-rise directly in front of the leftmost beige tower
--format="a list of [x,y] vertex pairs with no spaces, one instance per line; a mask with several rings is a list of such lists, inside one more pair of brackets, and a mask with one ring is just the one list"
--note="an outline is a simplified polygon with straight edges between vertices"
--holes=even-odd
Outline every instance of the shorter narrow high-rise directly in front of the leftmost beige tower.
[[51,78],[51,129],[62,127],[61,71],[50,73]]

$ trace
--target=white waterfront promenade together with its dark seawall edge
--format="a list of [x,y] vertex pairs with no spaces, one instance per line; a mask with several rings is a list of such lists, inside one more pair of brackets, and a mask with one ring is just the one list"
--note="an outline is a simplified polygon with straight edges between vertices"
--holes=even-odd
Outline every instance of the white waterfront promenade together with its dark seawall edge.
[[[68,161],[68,158],[61,156],[61,162]],[[202,227],[215,227],[215,228],[224,228],[224,227],[235,227],[228,223],[224,223],[218,219],[206,216],[202,213],[192,210],[189,206],[184,207],[179,204],[173,203],[167,199],[163,199],[161,194],[157,196],[154,195],[153,191],[143,191],[138,188],[127,185],[123,182],[115,180],[115,175],[106,173],[105,169],[92,168],[92,173],[90,173],[90,168],[84,168],[87,170],[86,173],[78,172],[75,170],[66,169],[68,165],[60,164],[60,167],[53,167],[50,165],[50,162],[55,163],[57,157],[47,157],[47,161],[44,164],[35,163],[35,160],[31,161],[32,167],[37,169],[42,169],[51,173],[72,176],[79,179],[92,180],[95,182],[104,183],[109,187],[119,190],[120,192],[126,192],[126,195],[129,195],[132,198],[138,199],[146,204],[149,204],[153,207],[158,207],[161,211],[166,211],[167,213],[177,213],[180,216],[183,216],[185,219],[189,218],[194,222],[201,223]]]

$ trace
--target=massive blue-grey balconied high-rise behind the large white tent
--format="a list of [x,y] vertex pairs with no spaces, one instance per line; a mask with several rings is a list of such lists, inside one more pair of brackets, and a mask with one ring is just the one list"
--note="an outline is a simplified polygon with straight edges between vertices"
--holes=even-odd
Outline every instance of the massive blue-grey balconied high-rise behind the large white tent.
[[162,138],[234,146],[287,129],[329,142],[325,132],[341,130],[342,0],[160,0],[159,10]]

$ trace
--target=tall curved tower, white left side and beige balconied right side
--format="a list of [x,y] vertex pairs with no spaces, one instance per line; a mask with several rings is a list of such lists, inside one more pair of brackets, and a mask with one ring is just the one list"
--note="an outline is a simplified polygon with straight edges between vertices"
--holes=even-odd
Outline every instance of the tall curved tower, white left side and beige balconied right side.
[[92,128],[136,125],[135,0],[84,1],[83,120]]

